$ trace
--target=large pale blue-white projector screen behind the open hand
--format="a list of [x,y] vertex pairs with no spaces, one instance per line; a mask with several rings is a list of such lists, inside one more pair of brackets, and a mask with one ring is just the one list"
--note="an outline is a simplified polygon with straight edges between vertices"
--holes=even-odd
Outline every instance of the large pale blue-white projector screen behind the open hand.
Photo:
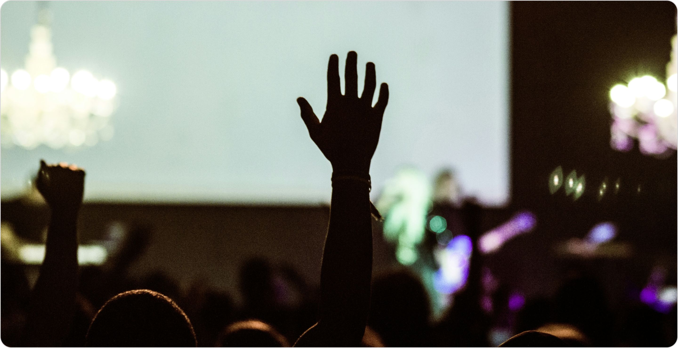
[[[117,84],[113,138],[93,147],[1,150],[3,198],[41,158],[87,171],[85,200],[329,202],[332,168],[296,98],[323,114],[332,53],[357,51],[391,91],[372,160],[372,198],[403,165],[464,194],[509,198],[506,2],[53,1],[58,66]],[[0,55],[24,67],[35,2],[4,3]],[[378,90],[378,88],[377,88]],[[378,93],[378,91],[377,91]],[[374,101],[376,102],[376,95]]]

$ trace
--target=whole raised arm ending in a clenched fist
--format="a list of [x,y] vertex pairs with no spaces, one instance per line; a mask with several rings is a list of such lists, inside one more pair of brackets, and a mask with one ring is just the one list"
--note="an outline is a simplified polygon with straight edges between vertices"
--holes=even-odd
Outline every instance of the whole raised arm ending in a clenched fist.
[[85,172],[62,162],[40,162],[37,189],[52,217],[47,227],[45,259],[31,293],[24,347],[56,347],[68,334],[77,290],[77,215],[83,199]]

